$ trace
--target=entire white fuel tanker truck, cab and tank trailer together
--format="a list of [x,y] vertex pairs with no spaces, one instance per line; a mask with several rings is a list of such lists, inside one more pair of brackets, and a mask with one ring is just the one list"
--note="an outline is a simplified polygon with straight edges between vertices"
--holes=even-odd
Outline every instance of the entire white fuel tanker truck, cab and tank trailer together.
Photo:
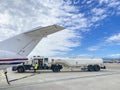
[[106,68],[101,58],[45,58],[34,56],[22,65],[13,66],[12,71],[23,73],[27,70],[34,70],[36,63],[38,64],[37,70],[52,70],[53,72],[60,72],[63,67],[79,68],[84,71],[100,71]]

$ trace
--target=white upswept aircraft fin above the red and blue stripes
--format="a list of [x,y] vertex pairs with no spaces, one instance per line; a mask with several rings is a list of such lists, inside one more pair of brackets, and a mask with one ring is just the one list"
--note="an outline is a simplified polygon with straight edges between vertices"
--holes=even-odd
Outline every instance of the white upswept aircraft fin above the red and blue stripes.
[[38,27],[31,31],[1,41],[0,50],[13,52],[20,56],[27,56],[43,37],[63,29],[64,27],[59,25]]

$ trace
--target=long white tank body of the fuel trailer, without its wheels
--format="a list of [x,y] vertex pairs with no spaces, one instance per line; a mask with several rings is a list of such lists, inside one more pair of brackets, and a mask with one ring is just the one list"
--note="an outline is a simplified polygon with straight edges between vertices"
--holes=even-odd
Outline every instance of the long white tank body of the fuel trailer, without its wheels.
[[51,63],[58,63],[64,66],[83,66],[83,65],[95,65],[103,64],[102,58],[62,58],[52,59]]

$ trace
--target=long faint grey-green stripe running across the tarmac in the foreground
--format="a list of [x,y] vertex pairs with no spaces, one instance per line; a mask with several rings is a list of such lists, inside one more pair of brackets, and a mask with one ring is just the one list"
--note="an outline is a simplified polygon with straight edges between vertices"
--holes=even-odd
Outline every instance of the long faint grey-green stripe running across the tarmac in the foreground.
[[[59,81],[68,81],[68,80],[75,80],[75,79],[83,79],[83,78],[92,78],[92,77],[102,77],[102,76],[110,76],[110,75],[116,75],[120,74],[120,72],[114,72],[114,73],[104,73],[104,74],[99,74],[99,75],[88,75],[88,76],[81,76],[81,77],[72,77],[72,78],[63,78],[63,79],[57,79],[57,80],[48,80],[48,81],[43,81],[43,82],[34,82],[34,83],[22,83],[24,86],[22,87],[28,87],[36,84],[47,84],[47,83],[54,83],[54,82],[59,82]],[[37,74],[36,74],[37,75]],[[0,87],[1,89],[9,89],[9,88],[18,88],[21,87],[21,85],[14,85],[14,86],[7,86],[7,87]]]

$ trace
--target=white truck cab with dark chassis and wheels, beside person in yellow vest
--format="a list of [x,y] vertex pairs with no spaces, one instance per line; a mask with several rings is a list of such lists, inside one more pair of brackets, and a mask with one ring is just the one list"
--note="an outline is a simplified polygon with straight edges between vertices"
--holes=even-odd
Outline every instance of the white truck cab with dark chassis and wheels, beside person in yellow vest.
[[62,65],[49,63],[48,58],[44,58],[43,56],[33,56],[22,65],[13,66],[12,71],[23,73],[26,70],[34,70],[36,63],[38,64],[37,70],[52,70],[53,72],[59,72],[62,69]]

